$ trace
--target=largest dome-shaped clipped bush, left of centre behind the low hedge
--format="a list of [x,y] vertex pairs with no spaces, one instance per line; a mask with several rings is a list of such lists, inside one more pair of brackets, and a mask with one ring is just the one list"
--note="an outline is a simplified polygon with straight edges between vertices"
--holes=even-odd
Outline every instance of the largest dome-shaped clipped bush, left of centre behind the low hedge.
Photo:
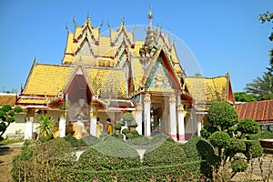
[[126,169],[140,165],[136,149],[114,136],[88,147],[78,159],[78,166],[83,170]]

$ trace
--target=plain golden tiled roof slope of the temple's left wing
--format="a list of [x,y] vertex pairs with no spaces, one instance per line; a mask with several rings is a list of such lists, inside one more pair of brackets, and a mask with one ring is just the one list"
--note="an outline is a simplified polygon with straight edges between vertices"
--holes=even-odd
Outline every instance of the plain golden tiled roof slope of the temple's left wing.
[[59,90],[63,90],[66,86],[73,68],[71,66],[34,65],[23,94],[56,96]]

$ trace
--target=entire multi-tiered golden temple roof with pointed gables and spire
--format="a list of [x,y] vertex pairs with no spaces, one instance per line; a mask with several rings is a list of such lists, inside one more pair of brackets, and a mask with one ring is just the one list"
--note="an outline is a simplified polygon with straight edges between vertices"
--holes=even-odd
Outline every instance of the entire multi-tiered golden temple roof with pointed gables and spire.
[[62,64],[34,61],[17,105],[56,106],[72,85],[85,87],[87,96],[116,99],[118,106],[134,106],[132,99],[142,92],[178,93],[188,103],[233,103],[229,76],[185,76],[175,45],[161,28],[153,28],[152,17],[150,12],[144,40],[136,40],[124,21],[116,30],[108,25],[107,36],[100,35],[103,24],[94,28],[89,15],[82,26],[74,21],[75,31],[67,28]]

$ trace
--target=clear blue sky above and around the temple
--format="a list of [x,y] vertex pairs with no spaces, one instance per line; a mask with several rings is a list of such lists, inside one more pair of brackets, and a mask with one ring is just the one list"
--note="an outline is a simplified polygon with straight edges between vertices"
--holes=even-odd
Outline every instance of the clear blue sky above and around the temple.
[[272,24],[260,24],[258,15],[273,11],[272,0],[0,0],[0,92],[25,85],[34,56],[61,64],[66,23],[74,31],[74,16],[77,25],[88,12],[95,27],[104,20],[103,32],[107,21],[116,27],[122,17],[126,25],[147,25],[149,5],[154,25],[162,24],[189,47],[203,76],[229,70],[235,92],[266,71]]

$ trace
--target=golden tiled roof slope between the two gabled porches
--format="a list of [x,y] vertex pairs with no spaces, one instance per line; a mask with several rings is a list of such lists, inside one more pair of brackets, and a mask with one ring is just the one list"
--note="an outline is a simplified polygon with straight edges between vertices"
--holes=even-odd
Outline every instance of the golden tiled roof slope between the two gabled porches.
[[94,95],[126,98],[126,73],[117,69],[86,68]]

